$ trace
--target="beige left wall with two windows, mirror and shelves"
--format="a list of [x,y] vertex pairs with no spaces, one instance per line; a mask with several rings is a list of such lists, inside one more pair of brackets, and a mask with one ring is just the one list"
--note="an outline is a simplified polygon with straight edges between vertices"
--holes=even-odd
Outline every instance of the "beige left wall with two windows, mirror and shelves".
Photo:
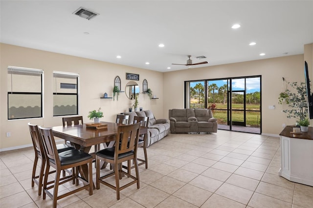
[[[90,59],[67,56],[41,50],[24,48],[8,44],[0,44],[0,149],[24,146],[31,144],[31,138],[27,123],[44,125],[45,127],[62,125],[61,117],[53,117],[53,71],[64,71],[80,74],[79,83],[79,114],[83,116],[84,123],[91,122],[88,112],[102,108],[104,118],[102,121],[115,122],[116,114],[128,111],[134,101],[129,100],[125,93],[120,93],[118,101],[112,99],[100,99],[105,92],[112,97],[114,78],[119,76],[122,82],[122,90],[126,83],[126,73],[139,74],[136,81],[142,90],[142,81],[148,81],[148,87],[152,89],[159,99],[150,100],[147,94],[140,93],[139,107],[151,109],[156,118],[163,115],[163,73],[134,68],[125,65],[100,62]],[[7,120],[7,67],[19,66],[44,70],[44,118]],[[6,137],[6,132],[11,132],[11,137]]]

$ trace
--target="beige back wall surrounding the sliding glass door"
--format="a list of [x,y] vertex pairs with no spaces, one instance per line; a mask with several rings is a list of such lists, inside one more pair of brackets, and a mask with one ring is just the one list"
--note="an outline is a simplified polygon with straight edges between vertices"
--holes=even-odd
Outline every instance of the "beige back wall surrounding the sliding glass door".
[[[283,129],[283,124],[295,123],[295,120],[287,119],[286,113],[281,112],[286,105],[278,104],[282,78],[284,77],[287,82],[304,82],[303,66],[303,55],[295,55],[166,72],[163,75],[163,109],[166,111],[184,107],[184,92],[181,90],[184,81],[261,75],[262,133],[278,135]],[[275,105],[275,109],[268,109],[268,105]]]

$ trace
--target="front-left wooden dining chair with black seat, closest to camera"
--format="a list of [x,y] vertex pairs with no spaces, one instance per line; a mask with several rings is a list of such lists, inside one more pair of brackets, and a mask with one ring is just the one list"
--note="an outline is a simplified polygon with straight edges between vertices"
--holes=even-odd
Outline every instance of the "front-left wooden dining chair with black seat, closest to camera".
[[[39,132],[43,141],[46,157],[43,199],[45,199],[45,196],[47,194],[53,200],[53,208],[56,208],[57,200],[62,199],[70,194],[76,193],[80,190],[87,189],[89,190],[89,195],[92,195],[92,156],[78,149],[71,149],[58,153],[52,130],[50,128],[43,128],[39,126]],[[59,185],[67,183],[68,181],[74,179],[78,179],[78,167],[85,164],[89,167],[88,181],[83,180],[84,185],[58,196]],[[50,166],[56,170],[56,174],[54,183],[48,187],[48,172]],[[61,170],[65,170],[68,168],[75,168],[75,170],[72,171],[72,175],[60,178]],[[49,191],[49,189],[51,188],[53,188],[53,193]]]

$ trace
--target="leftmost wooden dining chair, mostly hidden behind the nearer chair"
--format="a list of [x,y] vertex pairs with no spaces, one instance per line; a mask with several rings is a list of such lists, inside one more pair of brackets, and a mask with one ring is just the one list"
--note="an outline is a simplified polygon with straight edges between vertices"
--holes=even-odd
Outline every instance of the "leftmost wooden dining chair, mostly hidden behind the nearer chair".
[[[43,146],[43,141],[41,139],[41,135],[39,133],[38,125],[32,125],[28,123],[29,131],[31,140],[33,143],[34,151],[35,151],[35,160],[34,160],[34,166],[33,166],[33,172],[32,172],[32,181],[31,181],[31,187],[34,187],[35,184],[38,186],[38,195],[41,195],[42,193],[42,186],[43,186],[43,178],[44,178],[44,170],[45,170],[45,151]],[[64,152],[70,149],[74,149],[71,146],[67,146],[64,144],[59,144],[56,146],[58,152]],[[40,164],[40,172],[39,175],[36,176],[36,169],[38,164],[38,159],[41,160]],[[51,171],[50,173],[53,173],[55,171]],[[75,180],[73,180],[73,184],[75,183]]]

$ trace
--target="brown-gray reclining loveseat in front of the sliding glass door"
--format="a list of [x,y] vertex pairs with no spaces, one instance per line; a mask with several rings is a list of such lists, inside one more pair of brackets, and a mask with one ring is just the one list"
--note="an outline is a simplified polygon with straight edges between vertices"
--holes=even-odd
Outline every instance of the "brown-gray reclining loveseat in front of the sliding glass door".
[[171,133],[216,133],[217,119],[210,109],[170,109]]

